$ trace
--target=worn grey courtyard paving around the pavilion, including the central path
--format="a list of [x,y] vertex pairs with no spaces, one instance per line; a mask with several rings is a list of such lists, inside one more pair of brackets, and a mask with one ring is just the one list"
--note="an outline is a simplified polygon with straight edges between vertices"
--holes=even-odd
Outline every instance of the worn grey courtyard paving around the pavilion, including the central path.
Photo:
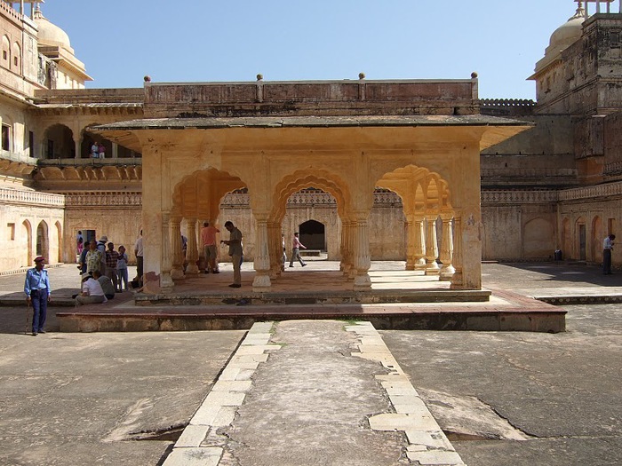
[[[76,289],[76,275],[63,281],[64,272],[52,270],[53,282]],[[586,265],[483,272],[486,286],[530,296],[622,290],[620,275]],[[23,275],[0,277],[0,290],[19,292],[22,283]],[[20,335],[24,307],[0,312],[0,464],[450,465],[463,464],[463,454],[471,466],[622,461],[622,319],[613,309],[571,318],[570,332],[556,336],[379,333],[365,323],[299,320],[248,333],[35,338]],[[586,325],[581,336],[576,328]],[[485,409],[464,407],[474,397],[513,423],[488,409],[498,425],[475,429]],[[534,443],[546,435],[560,440]],[[487,436],[508,440],[491,445]]]

